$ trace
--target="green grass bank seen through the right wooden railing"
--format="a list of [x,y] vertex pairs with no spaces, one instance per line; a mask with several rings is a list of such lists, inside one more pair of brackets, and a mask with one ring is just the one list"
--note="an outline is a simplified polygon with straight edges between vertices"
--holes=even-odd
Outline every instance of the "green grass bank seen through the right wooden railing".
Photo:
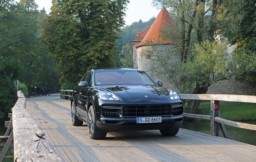
[[[220,103],[220,115],[233,121],[256,120],[256,103],[225,102]],[[210,103],[199,105],[197,114],[211,115]]]

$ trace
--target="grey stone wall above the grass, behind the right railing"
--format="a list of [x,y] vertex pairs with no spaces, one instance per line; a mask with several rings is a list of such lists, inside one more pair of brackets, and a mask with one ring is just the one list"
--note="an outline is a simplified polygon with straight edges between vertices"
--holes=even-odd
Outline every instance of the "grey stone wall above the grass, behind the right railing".
[[233,77],[227,82],[212,84],[207,94],[256,95],[256,87],[246,82],[239,82]]

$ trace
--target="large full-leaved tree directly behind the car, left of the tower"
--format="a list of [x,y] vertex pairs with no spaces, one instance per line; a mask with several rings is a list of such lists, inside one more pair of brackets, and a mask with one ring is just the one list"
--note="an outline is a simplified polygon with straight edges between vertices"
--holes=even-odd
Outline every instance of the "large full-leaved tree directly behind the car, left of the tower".
[[42,36],[60,82],[77,82],[92,68],[114,67],[115,41],[128,0],[53,1]]

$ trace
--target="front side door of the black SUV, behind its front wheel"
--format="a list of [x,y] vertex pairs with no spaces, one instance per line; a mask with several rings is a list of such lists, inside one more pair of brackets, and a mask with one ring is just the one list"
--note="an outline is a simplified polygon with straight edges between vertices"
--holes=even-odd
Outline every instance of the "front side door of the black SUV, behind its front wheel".
[[80,99],[81,99],[81,111],[82,115],[87,118],[87,104],[88,104],[88,91],[91,91],[92,86],[92,72],[88,71],[85,81],[88,82],[88,87],[81,88],[80,90]]

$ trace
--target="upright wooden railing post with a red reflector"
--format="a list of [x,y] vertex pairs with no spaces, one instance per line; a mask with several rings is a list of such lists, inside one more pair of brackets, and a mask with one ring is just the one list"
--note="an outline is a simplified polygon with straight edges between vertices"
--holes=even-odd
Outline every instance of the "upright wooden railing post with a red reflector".
[[219,136],[219,123],[214,121],[219,117],[219,101],[211,100],[211,135]]

